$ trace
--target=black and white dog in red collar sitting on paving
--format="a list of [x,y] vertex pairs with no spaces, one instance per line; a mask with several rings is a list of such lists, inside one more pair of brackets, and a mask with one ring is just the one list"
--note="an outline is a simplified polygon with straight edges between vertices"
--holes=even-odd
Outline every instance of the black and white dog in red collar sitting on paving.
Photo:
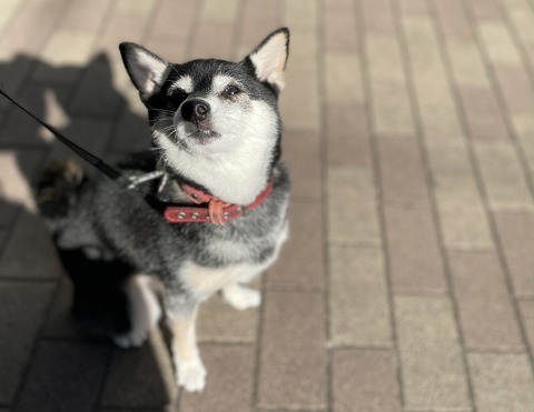
[[131,348],[165,314],[177,383],[201,391],[198,305],[220,292],[238,310],[258,307],[247,283],[288,235],[277,102],[289,31],[237,63],[171,64],[135,43],[119,49],[148,110],[151,150],[119,163],[128,187],[72,161],[52,164],[38,203],[73,280],[80,324]]

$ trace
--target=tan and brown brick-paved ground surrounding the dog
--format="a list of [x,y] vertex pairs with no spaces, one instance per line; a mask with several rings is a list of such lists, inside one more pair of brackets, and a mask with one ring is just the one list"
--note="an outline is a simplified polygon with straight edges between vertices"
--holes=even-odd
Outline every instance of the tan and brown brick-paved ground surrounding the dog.
[[293,32],[291,240],[265,303],[164,339],[79,336],[36,215],[52,139],[0,102],[0,411],[534,411],[533,0],[1,0],[0,81],[97,153],[144,148],[122,40],[172,61]]

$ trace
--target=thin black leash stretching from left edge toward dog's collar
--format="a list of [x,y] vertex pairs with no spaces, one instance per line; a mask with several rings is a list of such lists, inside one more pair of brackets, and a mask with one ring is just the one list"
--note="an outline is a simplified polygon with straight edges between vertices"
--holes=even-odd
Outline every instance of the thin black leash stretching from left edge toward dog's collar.
[[[24,113],[27,113],[29,117],[31,117],[33,120],[36,120],[39,124],[41,124],[44,129],[49,130],[61,143],[67,145],[70,150],[76,152],[80,158],[86,160],[89,164],[93,165],[97,168],[100,172],[106,174],[108,178],[111,180],[115,180],[119,183],[123,183],[128,187],[132,184],[132,182],[125,178],[125,175],[115,169],[113,167],[103,162],[103,160],[97,158],[95,154],[89,153],[86,149],[80,148],[78,144],[72,142],[70,139],[66,138],[63,134],[61,134],[56,128],[51,127],[50,124],[43,122],[41,119],[39,119],[37,115],[31,113],[28,109],[26,109],[22,104],[18,103],[14,101],[8,93],[3,91],[2,88],[0,88],[0,94],[2,94],[6,99],[8,99],[11,103],[17,105],[19,109],[21,109]],[[134,183],[135,184],[135,183]]]

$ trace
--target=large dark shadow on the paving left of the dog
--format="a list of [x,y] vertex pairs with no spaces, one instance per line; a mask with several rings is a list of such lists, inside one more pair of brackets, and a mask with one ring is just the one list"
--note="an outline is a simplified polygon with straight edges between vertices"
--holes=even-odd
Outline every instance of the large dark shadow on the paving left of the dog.
[[[17,56],[0,61],[0,84],[37,117],[111,162],[149,148],[148,122],[113,86],[112,64],[103,53],[83,67],[55,67]],[[0,313],[0,335],[12,340],[8,345],[12,353],[0,358],[14,373],[7,383],[0,382],[6,385],[0,388],[0,404],[18,402],[39,410],[32,402],[46,398],[61,410],[63,401],[72,404],[77,396],[72,380],[80,386],[93,385],[83,390],[87,398],[80,402],[162,409],[176,396],[165,338],[155,333],[141,349],[123,351],[88,340],[71,316],[72,284],[39,217],[34,194],[46,165],[65,158],[77,155],[0,97],[0,285],[9,284],[0,288],[0,301],[13,302],[17,312]],[[24,324],[13,326],[12,315],[24,319]],[[85,370],[88,353],[92,374]],[[46,359],[55,355],[57,360]],[[69,364],[61,362],[63,355]],[[40,396],[40,391],[48,393]]]

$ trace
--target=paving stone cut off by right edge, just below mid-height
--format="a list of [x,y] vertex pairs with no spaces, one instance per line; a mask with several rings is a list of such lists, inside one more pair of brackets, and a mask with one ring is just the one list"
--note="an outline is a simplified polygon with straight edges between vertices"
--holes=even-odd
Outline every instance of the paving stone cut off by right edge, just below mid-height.
[[534,298],[534,214],[493,213],[516,297]]

